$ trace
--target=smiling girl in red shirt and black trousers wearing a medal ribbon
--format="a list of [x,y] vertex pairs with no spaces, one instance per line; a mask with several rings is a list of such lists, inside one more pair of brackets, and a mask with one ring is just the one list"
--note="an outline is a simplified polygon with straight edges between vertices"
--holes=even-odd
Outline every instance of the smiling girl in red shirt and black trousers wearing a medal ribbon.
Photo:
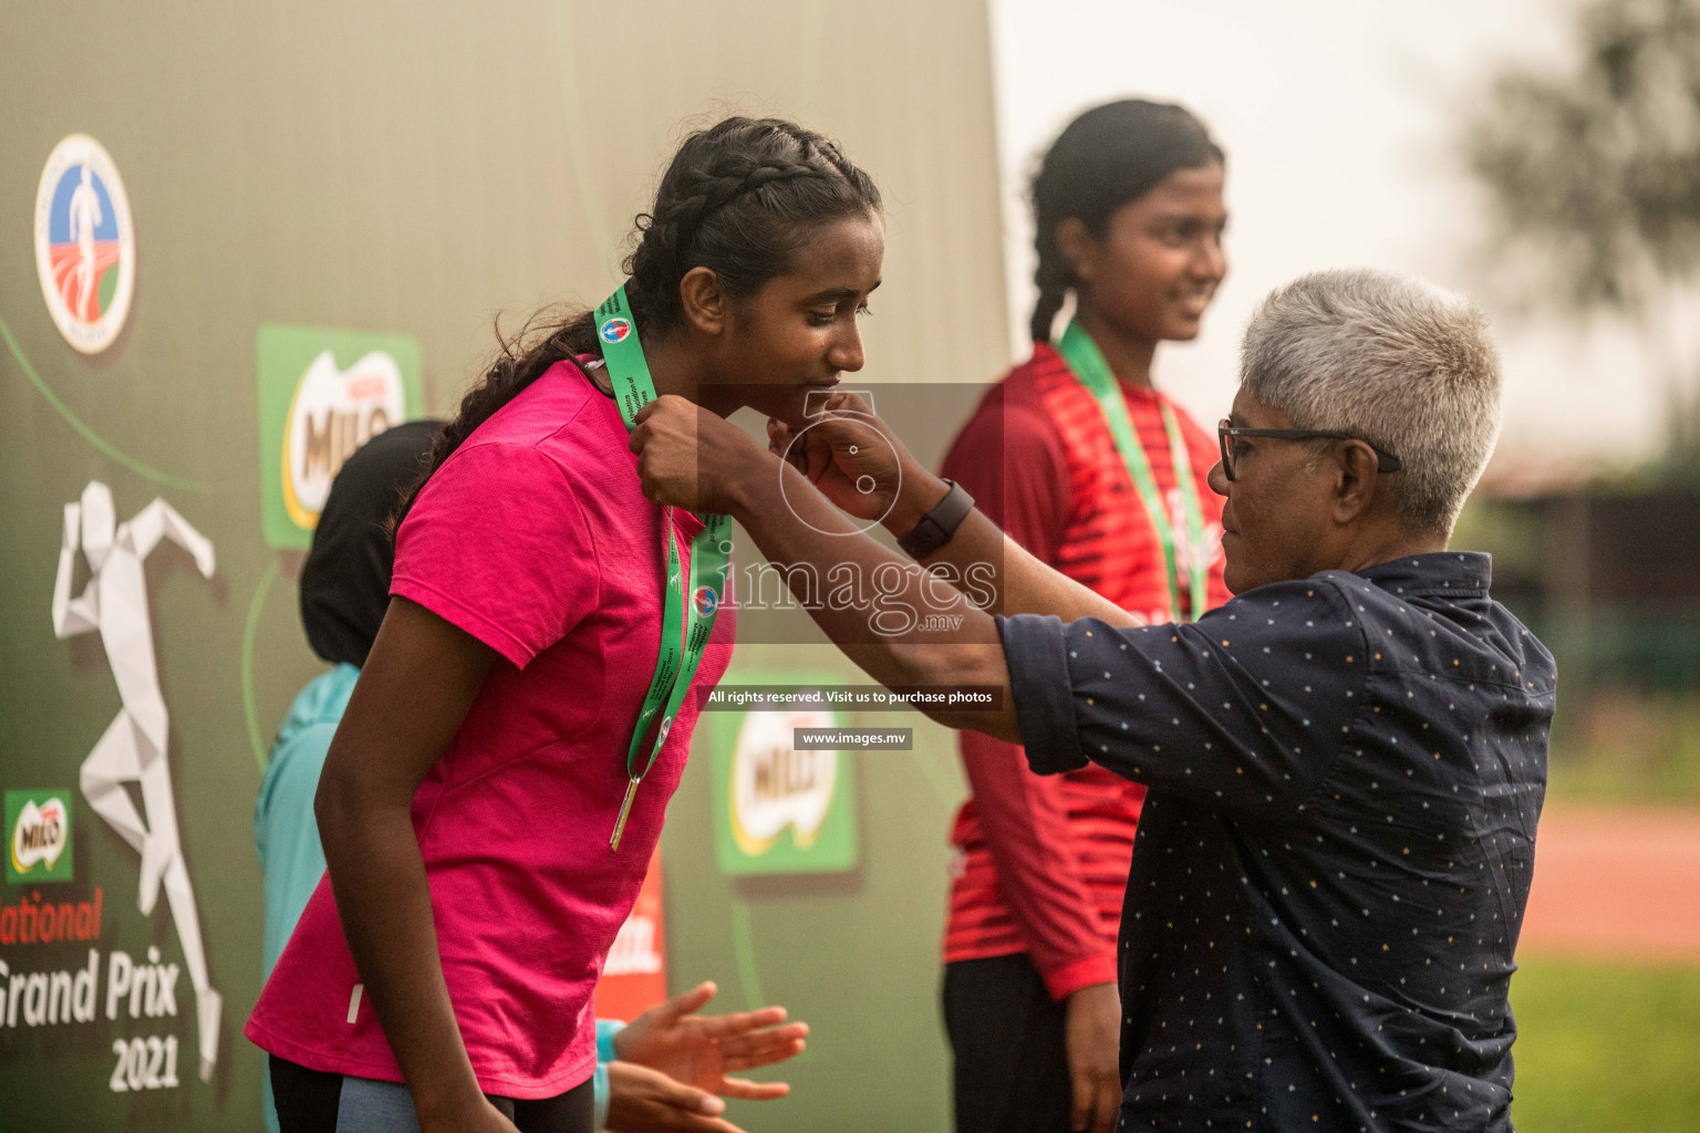
[[[1151,622],[1227,600],[1216,440],[1153,386],[1227,270],[1222,149],[1175,105],[1086,110],[1032,185],[1034,357],[981,403],[944,476],[1034,555]],[[1074,318],[1052,345],[1066,297]],[[1144,788],[1027,769],[962,732],[945,1023],[959,1133],[1108,1131],[1120,1108],[1115,933]],[[1137,899],[1137,897],[1136,897]]]

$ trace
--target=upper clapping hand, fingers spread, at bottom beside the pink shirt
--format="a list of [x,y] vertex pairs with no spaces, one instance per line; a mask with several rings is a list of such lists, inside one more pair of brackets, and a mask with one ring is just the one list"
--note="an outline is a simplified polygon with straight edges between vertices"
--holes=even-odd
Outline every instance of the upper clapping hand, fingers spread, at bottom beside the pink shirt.
[[695,1012],[714,999],[714,992],[712,982],[700,984],[643,1012],[614,1036],[614,1053],[722,1097],[765,1101],[789,1094],[790,1087],[784,1082],[729,1079],[726,1072],[767,1067],[802,1053],[809,1024],[780,1026],[785,1023],[784,1007],[697,1017]]

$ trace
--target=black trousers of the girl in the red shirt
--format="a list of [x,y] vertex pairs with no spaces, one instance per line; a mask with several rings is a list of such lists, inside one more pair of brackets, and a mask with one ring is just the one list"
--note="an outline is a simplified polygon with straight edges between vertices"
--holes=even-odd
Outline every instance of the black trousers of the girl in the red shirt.
[[1027,956],[945,965],[957,1133],[1071,1133],[1064,1016]]

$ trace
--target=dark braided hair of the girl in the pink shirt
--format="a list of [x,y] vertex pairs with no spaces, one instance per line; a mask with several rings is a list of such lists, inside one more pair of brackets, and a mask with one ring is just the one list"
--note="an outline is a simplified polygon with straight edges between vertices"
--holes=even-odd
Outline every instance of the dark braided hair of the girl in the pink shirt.
[[[733,299],[748,299],[792,270],[811,229],[881,207],[874,178],[814,131],[782,119],[729,117],[690,134],[661,177],[638,245],[622,265],[626,297],[646,335],[683,318],[678,285],[706,267]],[[597,355],[595,313],[544,307],[512,336],[496,326],[496,357],[444,425],[420,482],[396,510],[400,528],[425,481],[490,416],[551,365]]]

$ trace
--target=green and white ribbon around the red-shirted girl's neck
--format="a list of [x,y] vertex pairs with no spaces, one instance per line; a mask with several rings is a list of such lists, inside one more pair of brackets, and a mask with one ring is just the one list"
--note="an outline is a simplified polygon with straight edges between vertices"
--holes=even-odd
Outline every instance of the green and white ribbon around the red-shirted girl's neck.
[[[1068,369],[1074,372],[1074,379],[1086,387],[1086,392],[1096,399],[1098,409],[1103,411],[1103,421],[1110,426],[1110,438],[1115,442],[1115,450],[1122,454],[1122,462],[1127,465],[1127,477],[1134,481],[1134,491],[1139,493],[1139,501],[1146,506],[1151,527],[1156,528],[1158,542],[1163,545],[1163,566],[1168,567],[1170,610],[1175,620],[1182,620],[1175,528],[1170,521],[1170,510],[1163,501],[1163,494],[1158,491],[1156,479],[1151,476],[1151,460],[1146,457],[1146,447],[1139,443],[1134,418],[1127,413],[1127,399],[1122,397],[1122,386],[1115,380],[1115,374],[1110,370],[1110,364],[1105,362],[1103,352],[1098,350],[1098,343],[1091,341],[1091,335],[1080,324],[1080,319],[1069,319],[1068,330],[1062,331],[1062,338],[1057,341],[1057,353],[1062,355]],[[1175,462],[1175,484],[1180,488],[1182,511],[1187,521],[1187,574],[1190,583],[1188,598],[1192,600],[1187,606],[1187,615],[1190,620],[1197,620],[1204,613],[1204,603],[1209,601],[1210,579],[1210,569],[1204,555],[1204,510],[1198,506],[1198,484],[1192,479],[1192,460],[1187,455],[1187,438],[1182,437],[1180,421],[1175,420],[1175,411],[1166,401],[1159,401],[1158,404],[1163,409],[1163,428],[1168,431],[1170,459]]]

